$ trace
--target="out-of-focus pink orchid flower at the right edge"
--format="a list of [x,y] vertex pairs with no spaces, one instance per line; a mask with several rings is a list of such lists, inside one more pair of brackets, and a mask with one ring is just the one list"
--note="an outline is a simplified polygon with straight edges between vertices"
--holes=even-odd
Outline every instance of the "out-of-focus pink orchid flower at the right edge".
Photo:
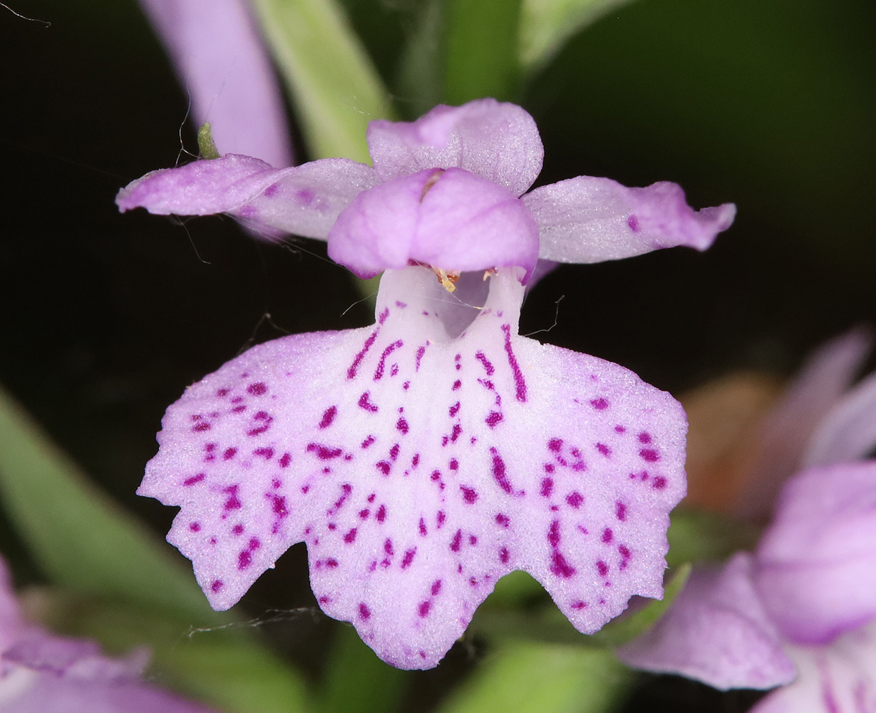
[[876,376],[832,396],[867,342],[852,333],[822,349],[770,420],[787,424],[802,393],[833,403],[820,423],[798,414],[810,436],[792,439],[795,454],[773,449],[805,469],[781,490],[759,547],[695,570],[667,616],[619,650],[627,664],[716,688],[783,686],[758,713],[876,709],[876,461],[857,460],[876,446]]

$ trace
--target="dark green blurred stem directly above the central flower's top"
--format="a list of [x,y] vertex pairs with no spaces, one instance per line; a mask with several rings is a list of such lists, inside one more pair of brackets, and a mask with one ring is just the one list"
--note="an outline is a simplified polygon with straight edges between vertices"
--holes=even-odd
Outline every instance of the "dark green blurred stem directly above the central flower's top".
[[444,98],[514,98],[520,79],[520,0],[448,0]]

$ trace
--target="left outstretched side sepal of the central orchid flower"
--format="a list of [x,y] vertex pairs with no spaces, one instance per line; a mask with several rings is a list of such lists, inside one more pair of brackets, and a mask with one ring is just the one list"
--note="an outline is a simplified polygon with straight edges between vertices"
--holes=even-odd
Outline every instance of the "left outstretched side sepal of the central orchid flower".
[[325,239],[337,216],[377,182],[371,166],[321,159],[275,169],[233,154],[146,173],[122,188],[117,206],[158,215],[227,213],[254,226]]

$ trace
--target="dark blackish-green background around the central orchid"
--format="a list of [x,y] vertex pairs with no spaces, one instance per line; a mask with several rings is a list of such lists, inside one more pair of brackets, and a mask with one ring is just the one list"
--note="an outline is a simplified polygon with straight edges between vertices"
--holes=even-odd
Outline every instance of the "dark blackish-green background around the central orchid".
[[[413,4],[347,5],[396,86]],[[173,166],[180,137],[195,150],[187,96],[135,3],[13,7],[51,26],[0,7],[0,382],[163,530],[173,512],[133,491],[185,386],[252,343],[371,315],[321,244],[118,215],[119,187]],[[528,298],[521,333],[550,328],[538,338],[679,392],[731,369],[790,373],[830,335],[876,323],[874,28],[868,0],[642,0],[573,39],[521,92],[545,143],[539,182],[675,180],[697,208],[735,201],[738,219],[704,254],[563,266]],[[0,537],[21,557],[2,522]],[[311,605],[297,549],[244,602]],[[307,626],[310,646],[327,625]],[[634,709],[751,700],[703,690],[652,682]]]

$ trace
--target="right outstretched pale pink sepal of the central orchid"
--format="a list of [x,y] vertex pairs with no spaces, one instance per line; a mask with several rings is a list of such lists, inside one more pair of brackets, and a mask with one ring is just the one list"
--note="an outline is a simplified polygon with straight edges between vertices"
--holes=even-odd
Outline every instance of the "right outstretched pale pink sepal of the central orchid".
[[539,224],[539,257],[562,263],[632,258],[675,245],[703,251],[736,215],[736,206],[695,211],[675,183],[627,188],[578,176],[523,196]]

